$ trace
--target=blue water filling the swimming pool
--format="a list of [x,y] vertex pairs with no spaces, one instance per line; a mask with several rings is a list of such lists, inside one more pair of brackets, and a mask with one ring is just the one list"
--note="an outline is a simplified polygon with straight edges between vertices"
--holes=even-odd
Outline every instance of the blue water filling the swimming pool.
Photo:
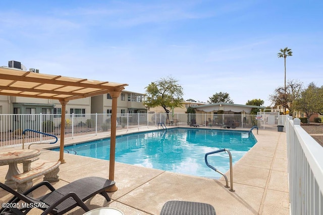
[[[256,143],[252,133],[216,129],[173,128],[117,136],[116,162],[203,177],[220,177],[206,166],[204,156],[229,149],[236,163]],[[53,149],[59,151],[59,149]],[[65,147],[66,153],[110,159],[110,138]],[[208,163],[226,173],[228,153],[209,155]]]

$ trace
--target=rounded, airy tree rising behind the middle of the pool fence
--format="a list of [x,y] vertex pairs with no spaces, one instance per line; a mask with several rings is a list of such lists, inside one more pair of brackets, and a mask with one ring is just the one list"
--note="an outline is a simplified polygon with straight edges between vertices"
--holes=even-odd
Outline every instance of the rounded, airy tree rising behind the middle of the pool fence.
[[169,119],[170,109],[181,107],[183,101],[183,88],[172,77],[161,78],[146,87],[146,101],[148,107],[161,106]]

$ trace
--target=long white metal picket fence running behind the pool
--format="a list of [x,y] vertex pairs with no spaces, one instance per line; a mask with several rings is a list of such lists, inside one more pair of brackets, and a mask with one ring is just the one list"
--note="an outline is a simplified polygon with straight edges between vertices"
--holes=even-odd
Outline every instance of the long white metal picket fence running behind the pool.
[[[200,127],[221,127],[230,121],[236,128],[248,129],[254,125],[259,129],[277,129],[277,118],[268,121],[267,116],[257,118],[256,115],[241,114],[166,114],[166,113],[136,113],[117,114],[117,132],[122,129],[140,129],[157,127],[159,122],[166,124],[166,119],[177,123],[167,126],[190,126],[192,119]],[[174,120],[177,119],[177,120]],[[274,123],[273,123],[274,122]],[[31,129],[42,133],[61,134],[60,114],[0,114],[0,147],[21,145],[33,142],[49,142],[52,137],[27,131],[23,140],[23,131]],[[111,114],[67,114],[65,121],[65,138],[76,136],[96,135],[100,132],[111,131]]]

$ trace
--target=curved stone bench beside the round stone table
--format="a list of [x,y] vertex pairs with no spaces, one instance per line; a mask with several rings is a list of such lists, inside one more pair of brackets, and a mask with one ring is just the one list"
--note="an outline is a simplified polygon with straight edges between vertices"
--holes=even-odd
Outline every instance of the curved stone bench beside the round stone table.
[[[35,159],[37,160],[37,159]],[[24,173],[21,173],[19,175],[15,175],[12,177],[12,180],[16,182],[17,186],[17,192],[23,193],[26,190],[28,190],[30,187],[32,187],[32,180],[44,176],[43,180],[48,182],[54,182],[59,181],[59,166],[61,164],[60,161],[41,161],[37,163],[41,163],[40,166],[37,166],[35,168],[28,168],[28,163],[33,162],[33,159],[30,159],[29,161],[26,160],[26,162],[23,164],[24,167]],[[28,170],[28,171],[25,171]]]

